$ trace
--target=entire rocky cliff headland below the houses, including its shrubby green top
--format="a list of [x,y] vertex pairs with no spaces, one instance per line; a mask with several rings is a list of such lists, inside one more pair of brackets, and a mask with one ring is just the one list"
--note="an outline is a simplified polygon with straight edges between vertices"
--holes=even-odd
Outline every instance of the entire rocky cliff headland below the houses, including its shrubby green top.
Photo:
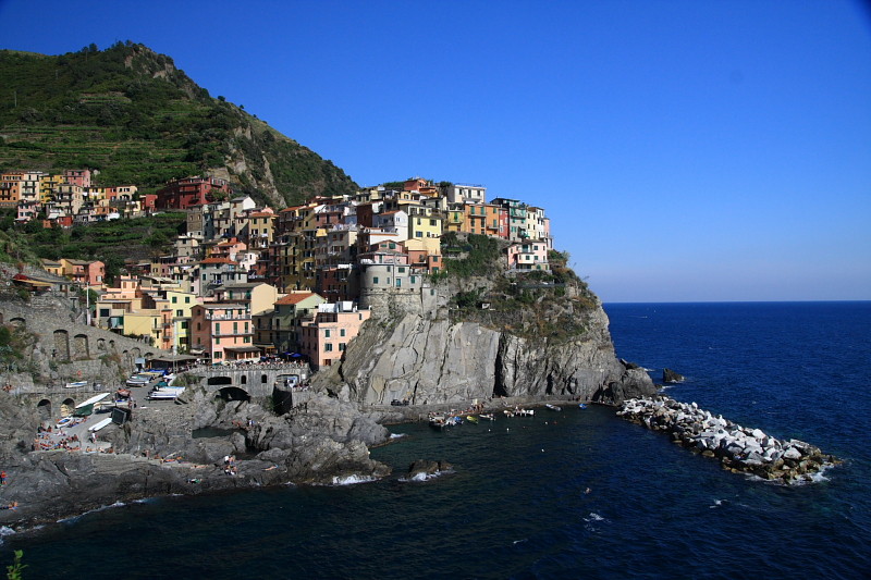
[[[615,356],[608,316],[582,282],[566,279],[559,297],[548,284],[527,284],[519,291],[526,305],[505,300],[505,284],[517,293],[524,282],[496,273],[421,291],[437,291],[441,300],[388,296],[341,365],[315,375],[316,386],[364,405],[502,396],[617,404],[655,392],[642,369]],[[462,309],[457,298],[469,288],[483,301]]]

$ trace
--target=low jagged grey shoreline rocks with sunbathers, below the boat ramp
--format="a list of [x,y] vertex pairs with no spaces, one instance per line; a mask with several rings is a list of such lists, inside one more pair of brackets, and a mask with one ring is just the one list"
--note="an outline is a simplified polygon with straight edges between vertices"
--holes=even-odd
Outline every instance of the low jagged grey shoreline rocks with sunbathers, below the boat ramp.
[[[314,396],[278,417],[256,403],[223,402],[198,391],[187,405],[139,409],[102,437],[114,453],[32,452],[36,411],[0,393],[0,467],[8,484],[0,526],[33,526],[142,497],[283,483],[334,483],[384,477],[369,457],[389,432],[356,406]],[[206,436],[195,433],[207,431]],[[235,456],[230,470],[224,457]]]

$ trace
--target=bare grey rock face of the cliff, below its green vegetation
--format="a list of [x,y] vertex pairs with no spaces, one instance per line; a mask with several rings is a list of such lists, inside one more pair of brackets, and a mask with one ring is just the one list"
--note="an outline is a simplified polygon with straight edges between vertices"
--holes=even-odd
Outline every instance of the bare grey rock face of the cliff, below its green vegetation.
[[615,356],[608,317],[596,306],[578,317],[577,337],[523,337],[477,322],[451,322],[444,307],[375,318],[342,363],[316,374],[341,399],[385,405],[462,403],[499,396],[580,397],[615,404],[655,392],[641,369]]

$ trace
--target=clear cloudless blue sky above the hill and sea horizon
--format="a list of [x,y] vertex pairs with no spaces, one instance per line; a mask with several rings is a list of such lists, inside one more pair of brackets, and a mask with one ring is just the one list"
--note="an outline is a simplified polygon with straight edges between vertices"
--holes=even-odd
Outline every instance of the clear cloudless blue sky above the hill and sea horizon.
[[544,207],[604,301],[871,299],[859,1],[0,0],[0,48],[143,42],[361,185]]

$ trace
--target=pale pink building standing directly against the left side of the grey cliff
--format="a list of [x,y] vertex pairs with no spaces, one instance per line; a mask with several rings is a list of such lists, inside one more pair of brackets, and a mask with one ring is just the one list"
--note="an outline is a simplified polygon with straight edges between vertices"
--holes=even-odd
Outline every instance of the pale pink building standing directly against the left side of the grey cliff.
[[299,329],[299,351],[315,369],[331,366],[342,358],[370,314],[370,310],[357,310],[353,303],[319,305],[315,321],[303,322]]

